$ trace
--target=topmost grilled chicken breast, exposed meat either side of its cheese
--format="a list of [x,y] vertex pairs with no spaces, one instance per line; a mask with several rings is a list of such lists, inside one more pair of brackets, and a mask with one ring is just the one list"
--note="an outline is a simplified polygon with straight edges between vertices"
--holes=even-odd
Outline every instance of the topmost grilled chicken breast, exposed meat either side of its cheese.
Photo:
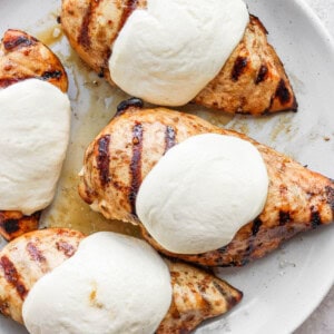
[[[108,60],[127,18],[146,0],[62,0],[62,29],[78,55],[111,85]],[[195,102],[254,116],[296,110],[292,86],[262,22],[250,16],[243,40]],[[222,65],[223,66],[223,65]]]

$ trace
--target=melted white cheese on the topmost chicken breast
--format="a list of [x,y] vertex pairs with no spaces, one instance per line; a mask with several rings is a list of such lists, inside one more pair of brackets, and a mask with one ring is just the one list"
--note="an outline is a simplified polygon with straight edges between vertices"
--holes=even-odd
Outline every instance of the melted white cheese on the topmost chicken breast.
[[148,0],[112,46],[111,78],[146,101],[185,105],[217,76],[248,21],[242,0]]

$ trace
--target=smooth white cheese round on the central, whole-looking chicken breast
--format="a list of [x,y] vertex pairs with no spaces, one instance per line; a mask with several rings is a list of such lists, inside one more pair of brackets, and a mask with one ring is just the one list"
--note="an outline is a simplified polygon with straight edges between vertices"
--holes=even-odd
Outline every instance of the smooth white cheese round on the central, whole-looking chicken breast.
[[268,176],[250,143],[215,134],[169,149],[144,179],[139,219],[167,250],[199,254],[227,245],[263,210]]

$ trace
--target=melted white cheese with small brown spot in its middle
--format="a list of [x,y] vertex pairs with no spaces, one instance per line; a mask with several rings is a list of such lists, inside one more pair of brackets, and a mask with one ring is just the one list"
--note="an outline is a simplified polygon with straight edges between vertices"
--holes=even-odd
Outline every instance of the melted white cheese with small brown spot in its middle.
[[140,239],[100,232],[35,284],[22,314],[31,334],[151,334],[170,302],[163,258]]

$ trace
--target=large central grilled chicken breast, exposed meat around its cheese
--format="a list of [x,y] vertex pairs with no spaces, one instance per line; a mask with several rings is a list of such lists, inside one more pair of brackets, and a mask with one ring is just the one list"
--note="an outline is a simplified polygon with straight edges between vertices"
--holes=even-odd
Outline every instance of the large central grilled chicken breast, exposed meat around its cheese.
[[[143,179],[170,147],[205,132],[236,136],[256,146],[269,177],[267,200],[261,215],[243,226],[227,246],[205,254],[173,254],[138,222],[136,195]],[[139,224],[144,237],[159,252],[206,266],[245,265],[299,232],[332,223],[334,217],[333,180],[243,134],[165,108],[140,109],[138,99],[122,104],[89,145],[79,194],[105,217]]]

